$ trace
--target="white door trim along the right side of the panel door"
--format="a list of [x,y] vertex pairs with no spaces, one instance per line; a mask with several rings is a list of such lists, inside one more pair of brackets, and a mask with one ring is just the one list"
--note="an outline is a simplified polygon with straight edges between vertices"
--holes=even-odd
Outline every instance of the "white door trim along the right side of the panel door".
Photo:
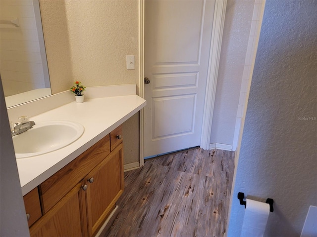
[[206,85],[205,106],[203,115],[201,148],[207,150],[210,145],[211,124],[213,107],[216,94],[216,85],[218,78],[218,68],[220,61],[222,33],[224,26],[224,17],[227,0],[216,0],[213,16],[212,35],[211,35],[211,50],[208,66],[208,76]]

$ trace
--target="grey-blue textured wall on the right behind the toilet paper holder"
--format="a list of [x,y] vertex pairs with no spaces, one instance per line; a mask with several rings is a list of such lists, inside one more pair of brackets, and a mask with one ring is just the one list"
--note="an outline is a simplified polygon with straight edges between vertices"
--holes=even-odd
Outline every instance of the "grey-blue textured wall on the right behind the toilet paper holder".
[[244,215],[238,192],[274,199],[264,236],[300,236],[309,206],[317,205],[316,22],[316,0],[266,0],[230,237],[239,236]]

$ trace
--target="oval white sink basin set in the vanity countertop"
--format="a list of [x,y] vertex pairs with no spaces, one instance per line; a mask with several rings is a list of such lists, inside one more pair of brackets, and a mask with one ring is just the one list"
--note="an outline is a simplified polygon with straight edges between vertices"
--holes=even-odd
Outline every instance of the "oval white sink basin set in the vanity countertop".
[[83,125],[70,121],[36,122],[33,128],[12,137],[16,158],[42,155],[76,141],[84,132]]

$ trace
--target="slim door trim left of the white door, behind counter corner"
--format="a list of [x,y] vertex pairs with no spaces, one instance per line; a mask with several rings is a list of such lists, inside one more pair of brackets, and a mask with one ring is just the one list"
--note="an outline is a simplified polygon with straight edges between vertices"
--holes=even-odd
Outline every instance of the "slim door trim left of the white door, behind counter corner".
[[[144,0],[139,0],[139,93],[144,99]],[[144,110],[140,110],[140,162],[144,165]]]

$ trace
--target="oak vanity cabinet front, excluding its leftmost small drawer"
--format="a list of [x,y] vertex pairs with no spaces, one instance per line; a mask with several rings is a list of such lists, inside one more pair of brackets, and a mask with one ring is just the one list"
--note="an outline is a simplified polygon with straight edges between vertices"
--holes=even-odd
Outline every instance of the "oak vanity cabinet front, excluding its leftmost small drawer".
[[38,186],[43,215],[31,236],[98,233],[123,193],[122,140],[119,127]]

